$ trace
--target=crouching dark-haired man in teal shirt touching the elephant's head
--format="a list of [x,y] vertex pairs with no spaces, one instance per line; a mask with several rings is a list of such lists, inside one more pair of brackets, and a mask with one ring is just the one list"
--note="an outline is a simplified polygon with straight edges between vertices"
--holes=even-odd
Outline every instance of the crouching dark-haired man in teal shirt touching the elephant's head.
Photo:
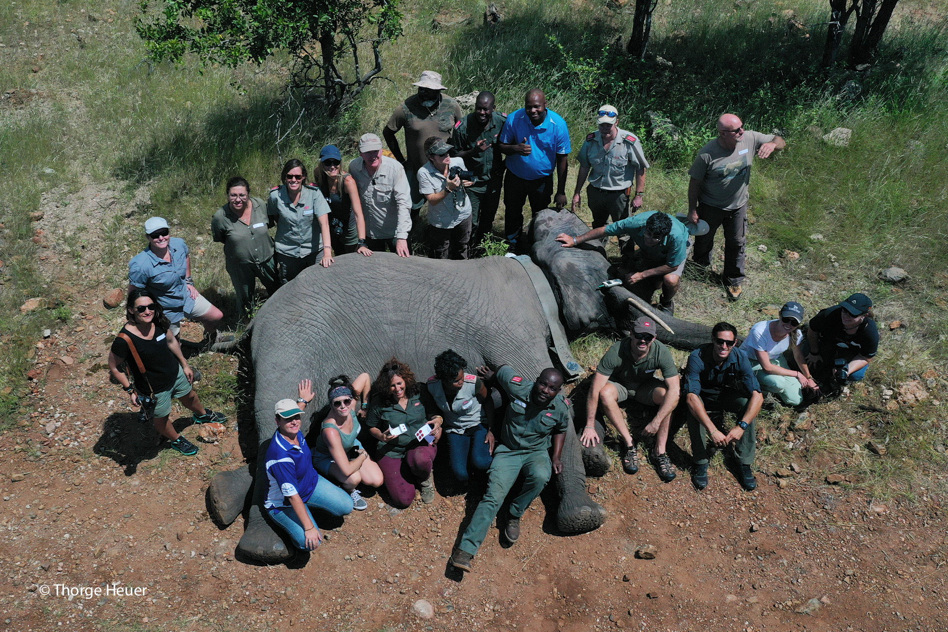
[[629,291],[651,302],[655,290],[662,290],[659,307],[675,313],[675,294],[682,280],[684,260],[688,256],[688,228],[677,218],[657,210],[632,215],[609,226],[593,228],[579,237],[566,233],[556,236],[564,248],[618,235],[629,235],[632,245],[623,253],[629,265],[625,281]]

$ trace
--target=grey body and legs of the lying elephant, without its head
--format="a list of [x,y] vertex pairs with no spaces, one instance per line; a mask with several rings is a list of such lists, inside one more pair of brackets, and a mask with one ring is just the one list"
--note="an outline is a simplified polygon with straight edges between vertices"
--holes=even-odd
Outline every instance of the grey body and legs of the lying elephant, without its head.
[[[264,304],[252,324],[258,454],[265,453],[264,443],[276,429],[274,403],[295,397],[302,378],[322,386],[338,373],[374,374],[394,355],[424,379],[434,356],[448,348],[461,353],[471,368],[507,364],[534,378],[553,364],[550,340],[556,344],[556,336],[551,327],[559,329],[559,324],[544,315],[526,269],[530,266],[504,257],[449,262],[375,253],[371,258],[343,255],[330,268],[304,270]],[[542,282],[542,274],[534,270],[533,278]],[[559,361],[564,367],[574,362],[572,357]],[[323,392],[320,388],[307,411],[326,404]],[[303,420],[304,434],[312,414]],[[580,442],[574,432],[566,434],[563,473],[556,477],[556,524],[564,533],[582,533],[599,527],[606,513],[587,495]],[[608,467],[601,447],[593,460],[605,460]],[[253,477],[246,468],[215,476],[208,500],[211,516],[229,524],[244,510],[253,480],[246,532],[237,550],[273,564],[288,560],[294,551],[262,515],[267,480],[262,461],[258,459]]]

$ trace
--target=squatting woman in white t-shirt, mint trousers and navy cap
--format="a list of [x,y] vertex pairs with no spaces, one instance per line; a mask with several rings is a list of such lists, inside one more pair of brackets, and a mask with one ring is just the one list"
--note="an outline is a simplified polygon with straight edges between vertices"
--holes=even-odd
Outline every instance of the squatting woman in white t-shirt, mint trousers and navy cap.
[[[740,351],[751,361],[760,388],[774,393],[787,406],[800,406],[804,401],[810,404],[819,391],[800,351],[802,322],[803,305],[792,300],[780,308],[779,318],[761,320],[751,327],[740,345]],[[788,349],[799,370],[791,369],[784,357]]]

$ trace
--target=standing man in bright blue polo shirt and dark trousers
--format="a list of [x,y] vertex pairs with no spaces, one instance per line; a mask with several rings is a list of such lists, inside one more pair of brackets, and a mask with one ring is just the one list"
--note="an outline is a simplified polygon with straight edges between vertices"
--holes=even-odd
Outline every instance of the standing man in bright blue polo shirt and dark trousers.
[[546,109],[546,95],[535,88],[527,93],[523,108],[507,117],[498,147],[509,156],[503,181],[503,233],[516,244],[523,228],[523,205],[527,198],[534,213],[550,206],[554,167],[556,208],[566,206],[566,158],[572,151],[570,131],[562,117]]

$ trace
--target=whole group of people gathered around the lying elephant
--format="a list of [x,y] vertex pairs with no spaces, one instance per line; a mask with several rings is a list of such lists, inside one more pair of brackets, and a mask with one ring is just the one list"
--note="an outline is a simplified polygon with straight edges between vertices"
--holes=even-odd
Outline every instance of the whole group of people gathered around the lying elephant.
[[[468,257],[472,241],[479,243],[491,231],[501,193],[504,237],[515,249],[522,246],[528,201],[533,212],[551,204],[565,208],[570,135],[562,117],[547,109],[542,91],[530,90],[524,107],[509,117],[495,111],[490,92],[481,92],[474,112],[463,117],[457,101],[443,94],[437,73],[426,71],[414,85],[417,94],[395,110],[383,131],[393,157],[383,153],[377,135],[365,134],[348,170],[334,145],[321,149],[312,179],[300,160],[287,161],[282,184],[265,201],[251,195],[246,179],[228,180],[227,201],[211,219],[211,234],[224,244],[242,314],[252,308],[258,279],[272,294],[308,266],[332,265],[334,253],[371,257],[388,250],[409,257],[410,231],[425,203],[429,254],[442,259]],[[593,228],[556,240],[575,247],[618,237],[629,289],[649,301],[659,291],[658,306],[673,313],[688,251],[695,262],[710,265],[715,232],[724,226],[722,280],[727,296],[739,298],[751,165],[755,156],[783,149],[784,140],[745,131],[734,115],[720,117],[718,137],[689,170],[687,212],[673,217],[638,212],[649,168],[641,143],[618,127],[611,105],[601,106],[596,117],[597,130],[586,136],[578,154],[572,201],[575,211],[586,186]],[[401,130],[405,153],[396,137]],[[194,423],[227,420],[201,404],[177,335],[184,318],[201,322],[205,339],[197,346],[207,348],[225,339],[217,332],[223,314],[195,288],[188,246],[171,236],[168,222],[150,218],[144,231],[148,245],[129,263],[127,322],[112,345],[109,368],[132,405],[140,406],[141,417],[153,420],[174,449],[193,455],[197,446],[170,422],[172,399],[191,409]],[[666,445],[678,413],[691,438],[696,488],[708,484],[709,454],[728,448],[738,461],[740,484],[755,489],[754,423],[764,393],[787,406],[808,406],[821,393],[862,379],[879,340],[871,307],[869,298],[854,294],[813,316],[803,334],[803,307],[790,301],[776,319],[755,324],[739,346],[737,329],[720,322],[683,371],[656,339],[653,319],[639,318],[598,364],[580,440],[600,441],[594,422],[601,406],[620,437],[624,470],[639,469],[637,436],[658,476],[671,481],[676,470]],[[452,350],[434,358],[433,367],[424,383],[397,358],[386,362],[374,381],[368,373],[355,380],[334,378],[327,390],[328,413],[310,438],[312,449],[301,437],[302,417],[314,398],[311,381],[301,381],[296,400],[275,404],[264,506],[298,548],[315,549],[322,538],[311,507],[334,515],[365,509],[360,488],[384,486],[396,507],[410,505],[416,495],[431,502],[432,466],[444,442],[455,479],[486,479],[483,500],[450,563],[471,569],[502,501],[522,478],[519,496],[501,518],[503,536],[517,541],[520,516],[562,468],[569,426],[569,404],[560,392],[563,375],[546,369],[530,380],[534,376],[506,366],[468,372],[465,358]],[[500,391],[502,410],[495,410],[492,388]],[[629,415],[627,422],[624,407],[646,411],[647,420],[636,424]],[[736,416],[733,427],[725,426],[723,412]]]

